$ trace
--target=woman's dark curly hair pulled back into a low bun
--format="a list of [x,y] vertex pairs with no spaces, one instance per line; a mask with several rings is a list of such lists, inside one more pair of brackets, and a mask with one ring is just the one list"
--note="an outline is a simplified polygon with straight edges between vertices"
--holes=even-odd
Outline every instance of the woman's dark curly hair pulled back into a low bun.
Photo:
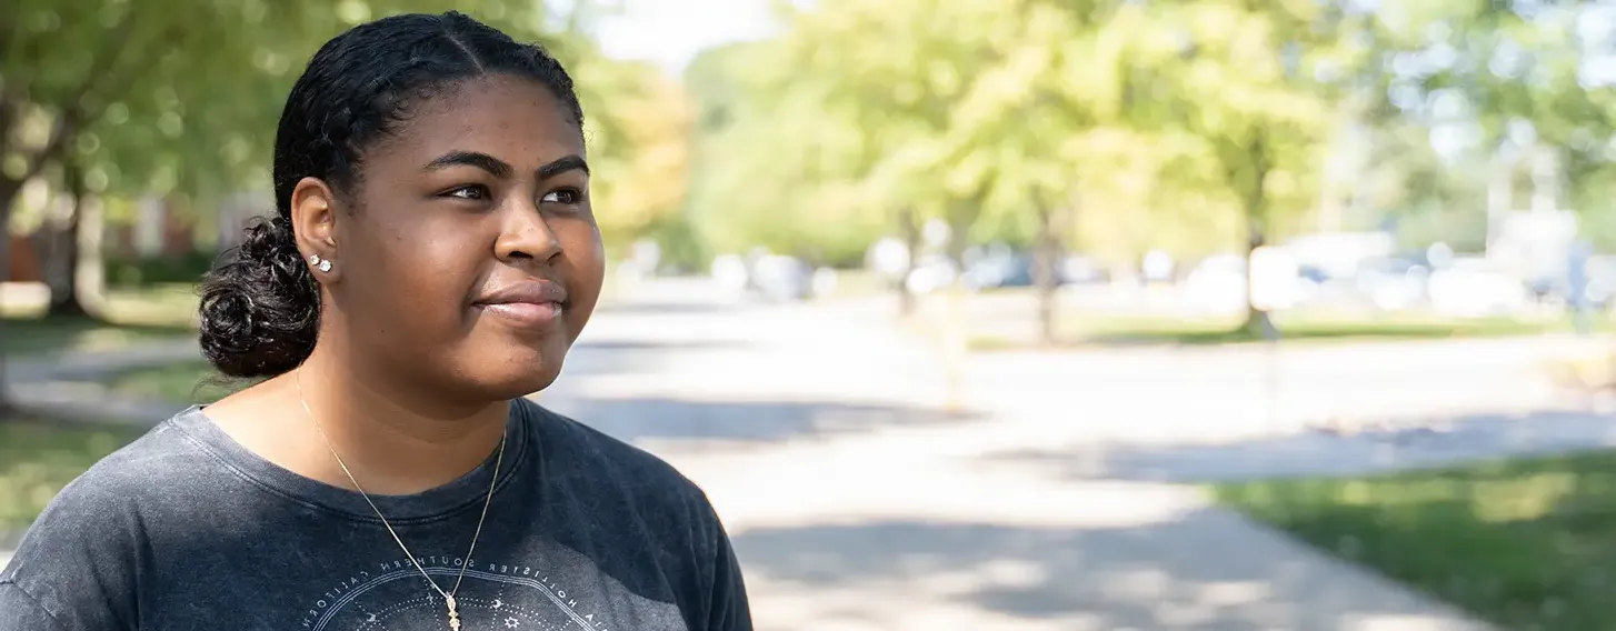
[[200,284],[202,353],[225,376],[268,378],[314,350],[320,289],[292,239],[291,197],[304,178],[338,195],[362,178],[364,152],[412,105],[478,76],[545,84],[582,131],[572,77],[545,48],[465,15],[398,15],[326,42],[286,97],[275,136],[276,216],[250,224]]

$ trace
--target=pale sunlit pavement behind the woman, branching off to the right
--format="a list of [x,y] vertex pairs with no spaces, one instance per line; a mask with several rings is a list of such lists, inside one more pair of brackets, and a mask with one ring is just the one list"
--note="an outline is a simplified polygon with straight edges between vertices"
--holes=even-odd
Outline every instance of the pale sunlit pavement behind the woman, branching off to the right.
[[[950,397],[936,353],[858,310],[633,295],[538,399],[708,491],[766,629],[1479,629],[1185,483],[1613,436],[1537,376],[1580,341],[1000,353]],[[1319,420],[1414,424],[1293,431]]]

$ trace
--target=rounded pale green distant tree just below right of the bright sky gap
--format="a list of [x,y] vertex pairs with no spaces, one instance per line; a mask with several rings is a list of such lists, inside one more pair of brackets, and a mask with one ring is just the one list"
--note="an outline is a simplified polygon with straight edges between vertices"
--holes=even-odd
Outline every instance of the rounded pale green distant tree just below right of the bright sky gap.
[[847,111],[826,108],[824,84],[792,68],[781,42],[692,63],[685,81],[700,123],[685,213],[716,252],[763,245],[823,265],[856,261],[886,228],[855,176],[868,139]]

